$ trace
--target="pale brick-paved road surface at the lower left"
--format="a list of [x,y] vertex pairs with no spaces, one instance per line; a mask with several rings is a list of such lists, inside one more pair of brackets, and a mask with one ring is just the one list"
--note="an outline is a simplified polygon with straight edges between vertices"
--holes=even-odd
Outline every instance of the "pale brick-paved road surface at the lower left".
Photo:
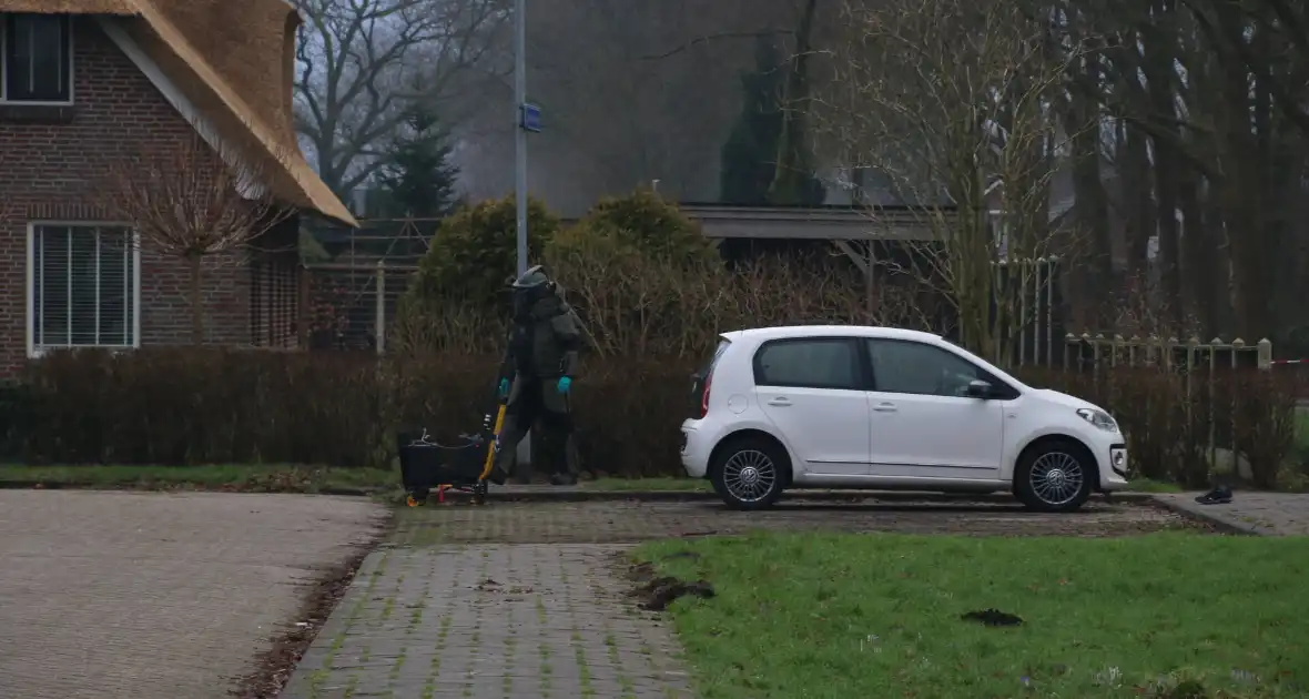
[[0,696],[206,699],[382,508],[296,495],[0,491]]

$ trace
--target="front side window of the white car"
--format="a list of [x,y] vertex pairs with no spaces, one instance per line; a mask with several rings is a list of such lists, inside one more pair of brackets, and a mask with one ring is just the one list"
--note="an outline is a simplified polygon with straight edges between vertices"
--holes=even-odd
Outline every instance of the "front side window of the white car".
[[963,397],[969,384],[994,381],[980,367],[940,347],[907,340],[868,340],[878,391]]

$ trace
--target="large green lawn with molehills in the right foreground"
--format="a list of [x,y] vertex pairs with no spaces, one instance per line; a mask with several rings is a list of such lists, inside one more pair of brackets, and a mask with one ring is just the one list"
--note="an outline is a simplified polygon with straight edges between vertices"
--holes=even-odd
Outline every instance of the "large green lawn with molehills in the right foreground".
[[[755,534],[635,555],[716,588],[670,607],[700,699],[1309,696],[1309,538]],[[990,607],[1025,623],[959,619]]]

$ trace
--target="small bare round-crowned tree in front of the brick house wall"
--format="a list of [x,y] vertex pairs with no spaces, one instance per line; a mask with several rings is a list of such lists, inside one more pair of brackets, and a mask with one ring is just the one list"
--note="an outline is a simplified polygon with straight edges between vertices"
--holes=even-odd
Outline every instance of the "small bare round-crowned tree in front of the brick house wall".
[[98,188],[101,203],[132,224],[143,250],[186,264],[191,343],[202,344],[206,264],[238,262],[293,209],[274,199],[264,161],[226,144],[213,147],[199,134],[111,162]]

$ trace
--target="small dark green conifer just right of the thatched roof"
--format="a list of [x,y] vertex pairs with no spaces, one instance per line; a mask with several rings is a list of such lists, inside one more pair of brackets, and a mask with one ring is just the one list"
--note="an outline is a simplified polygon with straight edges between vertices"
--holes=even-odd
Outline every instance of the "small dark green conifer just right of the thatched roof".
[[377,171],[386,215],[441,219],[453,212],[459,169],[450,164],[450,152],[436,111],[425,105],[410,107]]

